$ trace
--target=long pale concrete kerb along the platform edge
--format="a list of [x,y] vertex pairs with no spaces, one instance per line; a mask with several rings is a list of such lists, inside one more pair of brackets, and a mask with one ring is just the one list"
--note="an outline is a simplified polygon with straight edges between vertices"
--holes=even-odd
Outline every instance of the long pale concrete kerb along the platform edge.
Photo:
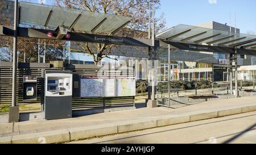
[[73,140],[88,139],[98,136],[119,134],[124,132],[146,130],[148,128],[170,126],[173,124],[193,122],[196,120],[224,117],[228,115],[256,111],[256,105],[238,106],[229,109],[208,110],[204,112],[184,113],[179,115],[166,115],[141,120],[131,120],[119,123],[110,123],[97,126],[68,128],[67,130],[40,132],[29,135],[14,135],[1,137],[0,143],[64,143]]

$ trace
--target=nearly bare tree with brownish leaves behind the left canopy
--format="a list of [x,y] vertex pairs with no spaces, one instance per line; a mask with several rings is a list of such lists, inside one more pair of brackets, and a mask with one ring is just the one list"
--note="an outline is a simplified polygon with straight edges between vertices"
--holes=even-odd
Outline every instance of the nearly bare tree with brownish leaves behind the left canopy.
[[[155,0],[155,11],[160,8],[160,0]],[[115,35],[125,37],[146,38],[148,31],[148,0],[56,0],[55,5],[77,8],[92,12],[100,12],[104,14],[114,14],[131,16],[133,20],[121,29]],[[166,21],[163,14],[159,18],[155,18],[156,32],[161,31],[165,27]],[[104,34],[110,35],[110,34]],[[113,34],[111,34],[113,35]],[[95,64],[98,64],[103,58],[109,58],[114,45],[78,43],[84,52],[89,53],[93,57]]]

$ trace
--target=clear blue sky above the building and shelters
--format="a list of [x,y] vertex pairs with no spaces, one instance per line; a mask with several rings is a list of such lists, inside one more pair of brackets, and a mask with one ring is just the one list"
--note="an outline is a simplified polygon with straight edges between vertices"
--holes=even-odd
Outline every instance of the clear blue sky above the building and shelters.
[[[30,0],[38,3],[39,0]],[[53,0],[43,0],[51,5]],[[177,24],[197,25],[207,21],[230,23],[234,26],[235,12],[237,28],[241,33],[256,32],[256,0],[161,0],[162,6],[157,12],[164,13],[167,27]]]

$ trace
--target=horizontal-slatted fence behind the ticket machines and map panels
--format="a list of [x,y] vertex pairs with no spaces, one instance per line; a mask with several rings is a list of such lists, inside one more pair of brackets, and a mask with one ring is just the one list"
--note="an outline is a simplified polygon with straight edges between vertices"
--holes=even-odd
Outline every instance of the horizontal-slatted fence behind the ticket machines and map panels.
[[[81,76],[97,76],[100,67],[93,64],[67,64],[64,68],[53,68],[49,63],[18,63],[17,70],[17,104],[40,104],[42,102],[44,90],[44,70],[71,70],[73,75]],[[117,75],[120,72],[129,75],[127,78],[134,78],[133,68],[127,70],[104,70],[102,75]],[[23,101],[23,75],[36,75],[38,77],[37,100]],[[13,71],[11,62],[0,62],[0,104],[11,104]],[[97,97],[97,98],[81,98],[73,97],[72,109],[84,110],[88,108],[109,108],[134,106],[134,96],[127,97]]]

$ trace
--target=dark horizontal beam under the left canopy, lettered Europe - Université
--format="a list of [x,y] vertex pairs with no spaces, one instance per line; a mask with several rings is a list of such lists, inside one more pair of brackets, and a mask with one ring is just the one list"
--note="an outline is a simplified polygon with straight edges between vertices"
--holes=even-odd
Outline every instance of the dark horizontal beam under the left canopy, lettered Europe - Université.
[[[0,35],[13,36],[13,26],[0,25]],[[48,36],[47,33],[52,32],[53,36]],[[65,35],[69,34],[71,37],[67,38]],[[93,35],[88,33],[69,32],[68,28],[59,26],[55,31],[48,29],[37,28],[24,28],[18,27],[18,37],[26,38],[42,38],[51,40],[65,40],[65,41],[78,41],[78,42],[92,42],[99,44],[113,44],[113,45],[127,45],[127,46],[141,46],[151,47],[152,40],[131,38],[131,37],[118,37],[110,35]]]

